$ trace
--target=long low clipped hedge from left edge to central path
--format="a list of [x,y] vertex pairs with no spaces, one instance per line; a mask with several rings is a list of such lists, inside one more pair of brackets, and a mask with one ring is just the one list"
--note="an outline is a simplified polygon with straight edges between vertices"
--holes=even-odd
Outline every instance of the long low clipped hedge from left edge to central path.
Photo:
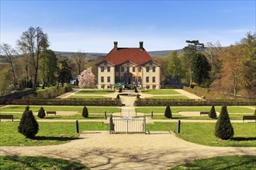
[[121,106],[121,100],[69,100],[69,99],[0,99],[0,104],[66,105],[66,106]]

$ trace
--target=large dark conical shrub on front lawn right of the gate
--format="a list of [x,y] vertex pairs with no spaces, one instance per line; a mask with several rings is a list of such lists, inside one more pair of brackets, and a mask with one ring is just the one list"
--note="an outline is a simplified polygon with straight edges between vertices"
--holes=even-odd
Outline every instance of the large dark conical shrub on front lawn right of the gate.
[[223,140],[230,139],[234,136],[234,128],[230,122],[226,105],[221,107],[220,116],[215,125],[215,136]]

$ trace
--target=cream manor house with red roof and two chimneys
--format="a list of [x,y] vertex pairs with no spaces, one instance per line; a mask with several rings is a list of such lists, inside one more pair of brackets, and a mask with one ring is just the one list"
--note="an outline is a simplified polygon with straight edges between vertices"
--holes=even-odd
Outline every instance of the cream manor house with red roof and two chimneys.
[[146,87],[160,89],[160,65],[144,49],[120,48],[114,42],[114,48],[97,66],[97,87],[102,84],[124,83],[126,87]]

